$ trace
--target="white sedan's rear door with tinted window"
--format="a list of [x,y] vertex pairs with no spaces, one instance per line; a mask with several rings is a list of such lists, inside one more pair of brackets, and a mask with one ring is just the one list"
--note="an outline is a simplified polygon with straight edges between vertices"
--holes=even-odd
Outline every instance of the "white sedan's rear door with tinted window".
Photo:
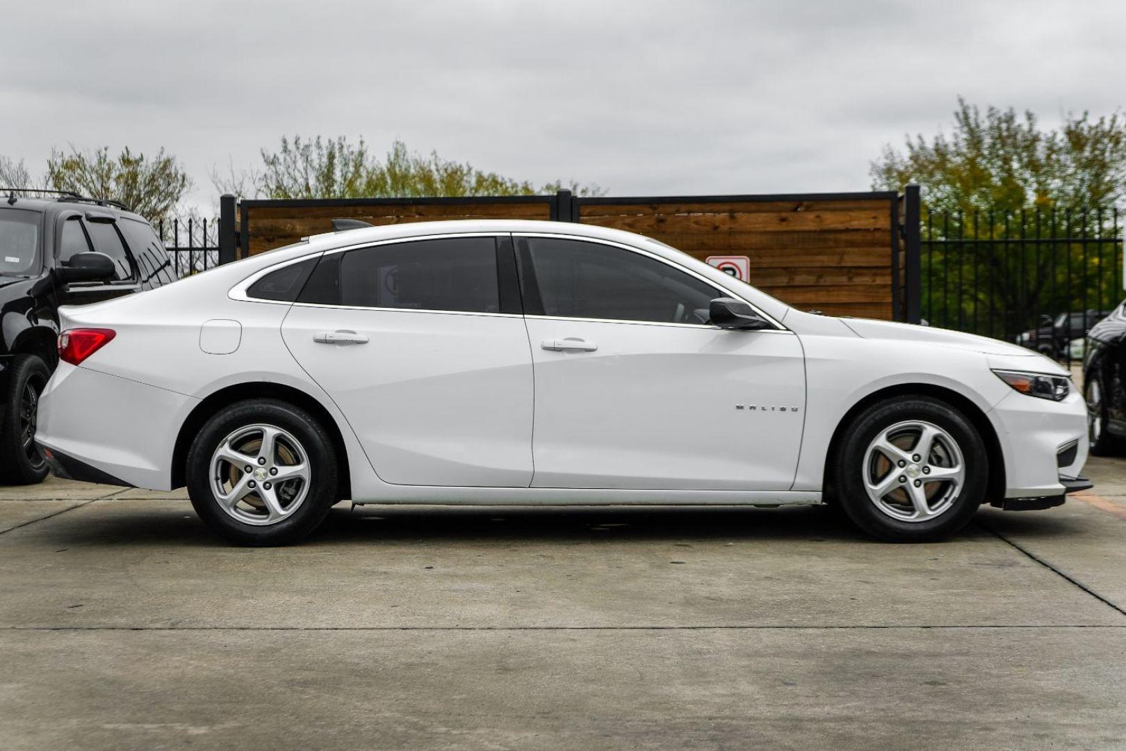
[[507,235],[327,253],[283,337],[385,482],[530,483],[531,354]]

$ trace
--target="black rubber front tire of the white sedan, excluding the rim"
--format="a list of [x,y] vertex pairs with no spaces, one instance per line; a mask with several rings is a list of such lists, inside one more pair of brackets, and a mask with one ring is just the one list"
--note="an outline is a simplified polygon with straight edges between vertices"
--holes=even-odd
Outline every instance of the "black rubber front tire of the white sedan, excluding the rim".
[[[945,513],[928,521],[901,521],[868,498],[864,485],[865,455],[876,436],[906,420],[924,420],[946,430],[958,444],[966,480]],[[956,408],[929,397],[883,402],[865,410],[849,427],[837,457],[837,486],[843,511],[860,529],[888,542],[923,542],[946,537],[964,527],[981,506],[989,484],[989,455],[973,423]]]

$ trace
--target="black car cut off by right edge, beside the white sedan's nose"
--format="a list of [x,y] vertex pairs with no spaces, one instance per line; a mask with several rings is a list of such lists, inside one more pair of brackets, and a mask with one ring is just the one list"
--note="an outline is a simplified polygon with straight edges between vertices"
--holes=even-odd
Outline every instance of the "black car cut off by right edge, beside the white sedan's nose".
[[1083,393],[1091,453],[1108,456],[1126,448],[1126,302],[1087,334]]

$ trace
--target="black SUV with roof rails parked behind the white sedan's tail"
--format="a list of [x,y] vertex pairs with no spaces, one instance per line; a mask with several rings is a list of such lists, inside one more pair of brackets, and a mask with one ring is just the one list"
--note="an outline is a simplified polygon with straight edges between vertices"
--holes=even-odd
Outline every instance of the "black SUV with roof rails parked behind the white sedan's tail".
[[164,244],[126,206],[0,188],[0,482],[47,476],[35,413],[59,361],[59,306],[175,280]]

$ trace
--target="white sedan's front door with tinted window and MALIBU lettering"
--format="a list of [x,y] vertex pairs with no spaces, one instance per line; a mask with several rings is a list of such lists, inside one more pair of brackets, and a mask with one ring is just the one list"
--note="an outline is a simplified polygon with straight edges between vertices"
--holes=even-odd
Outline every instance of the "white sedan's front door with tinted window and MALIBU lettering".
[[536,373],[535,488],[788,490],[805,417],[797,337],[723,330],[730,296],[653,256],[517,239]]

